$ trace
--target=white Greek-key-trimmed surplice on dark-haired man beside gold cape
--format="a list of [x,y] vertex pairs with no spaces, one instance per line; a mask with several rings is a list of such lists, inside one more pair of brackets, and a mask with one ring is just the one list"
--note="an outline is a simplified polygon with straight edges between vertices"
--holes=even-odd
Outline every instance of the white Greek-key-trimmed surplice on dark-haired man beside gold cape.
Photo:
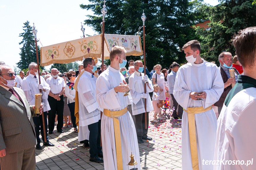
[[78,141],[89,139],[88,125],[101,119],[101,111],[96,101],[96,77],[84,71],[79,79],[77,90],[79,98],[79,132]]

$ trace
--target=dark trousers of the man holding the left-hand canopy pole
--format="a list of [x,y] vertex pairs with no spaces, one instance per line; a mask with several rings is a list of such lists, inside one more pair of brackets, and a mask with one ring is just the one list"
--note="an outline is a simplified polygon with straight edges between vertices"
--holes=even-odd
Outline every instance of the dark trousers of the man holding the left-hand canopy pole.
[[33,122],[35,124],[35,131],[36,131],[36,141],[37,144],[41,143],[40,137],[39,137],[39,130],[41,130],[41,136],[42,140],[44,142],[44,126],[45,126],[45,133],[46,133],[46,142],[48,141],[48,135],[47,135],[47,111],[44,111],[44,126],[43,126],[43,115],[39,115],[39,117],[32,117]]

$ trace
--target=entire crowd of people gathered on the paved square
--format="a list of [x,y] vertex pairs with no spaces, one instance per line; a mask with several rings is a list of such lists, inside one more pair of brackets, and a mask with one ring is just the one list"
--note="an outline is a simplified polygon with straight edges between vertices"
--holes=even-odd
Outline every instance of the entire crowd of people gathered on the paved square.
[[[237,55],[220,53],[217,67],[200,57],[200,43],[192,40],[182,48],[187,64],[173,62],[164,69],[157,64],[150,72],[140,60],[128,61],[127,69],[120,46],[110,51],[109,67],[86,58],[77,71],[63,74],[53,68],[40,76],[31,62],[26,75],[16,76],[0,61],[1,169],[35,169],[35,149],[42,149],[39,132],[43,145],[52,147],[48,135],[55,124],[59,133],[70,124],[78,141],[90,148],[90,161],[104,162],[105,169],[131,169],[131,153],[140,170],[138,143],[152,140],[149,112],[152,123],[160,123],[168,118],[166,109],[182,121],[183,169],[255,169],[256,27],[240,30],[233,45]],[[39,93],[41,113],[36,114]],[[228,163],[216,163],[223,159]]]

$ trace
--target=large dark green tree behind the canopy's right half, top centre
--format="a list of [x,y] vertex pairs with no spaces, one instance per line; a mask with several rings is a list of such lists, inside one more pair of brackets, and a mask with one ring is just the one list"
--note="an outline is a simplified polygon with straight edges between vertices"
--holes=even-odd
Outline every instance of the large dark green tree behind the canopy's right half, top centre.
[[[103,1],[89,0],[91,4],[80,7],[92,10],[94,15],[87,15],[85,24],[101,33],[101,9]],[[149,70],[155,64],[169,67],[173,61],[183,63],[185,55],[181,52],[182,46],[190,40],[198,38],[195,30],[191,28],[202,19],[195,6],[201,0],[109,0],[106,2],[107,14],[105,33],[136,35],[139,26],[142,26],[141,14],[147,17],[145,21],[146,66]],[[139,32],[143,46],[143,31]],[[143,56],[128,56],[127,60],[143,59]]]

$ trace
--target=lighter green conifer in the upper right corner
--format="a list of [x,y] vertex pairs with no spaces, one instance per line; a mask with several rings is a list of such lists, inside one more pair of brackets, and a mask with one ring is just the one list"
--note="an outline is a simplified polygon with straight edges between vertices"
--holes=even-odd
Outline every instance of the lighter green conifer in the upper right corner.
[[256,4],[252,0],[220,1],[217,6],[204,4],[199,10],[211,21],[209,31],[197,27],[200,35],[201,57],[219,63],[218,56],[223,51],[235,55],[232,38],[235,33],[246,27],[256,25]]

